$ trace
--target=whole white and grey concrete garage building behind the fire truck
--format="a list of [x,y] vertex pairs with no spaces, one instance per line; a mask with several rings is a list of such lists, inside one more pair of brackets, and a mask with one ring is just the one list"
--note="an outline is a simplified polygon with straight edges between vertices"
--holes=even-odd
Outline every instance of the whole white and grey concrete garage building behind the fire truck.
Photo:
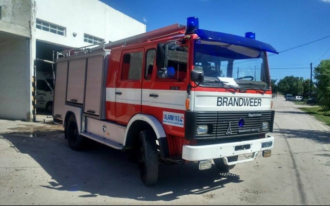
[[0,118],[32,120],[36,58],[143,32],[146,25],[98,0],[0,0]]

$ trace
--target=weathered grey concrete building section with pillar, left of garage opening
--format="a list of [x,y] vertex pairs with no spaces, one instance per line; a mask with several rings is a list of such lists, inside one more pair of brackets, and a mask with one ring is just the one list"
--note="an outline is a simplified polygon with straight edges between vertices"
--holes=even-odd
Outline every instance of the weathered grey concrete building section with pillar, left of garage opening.
[[31,120],[33,0],[1,0],[0,118]]

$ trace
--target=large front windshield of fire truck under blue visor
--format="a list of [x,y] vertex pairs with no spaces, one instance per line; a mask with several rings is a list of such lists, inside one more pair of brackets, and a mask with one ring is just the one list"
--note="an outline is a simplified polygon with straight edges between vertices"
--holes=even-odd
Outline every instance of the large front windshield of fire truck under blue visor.
[[204,87],[270,89],[265,52],[249,47],[198,39],[194,69],[203,70]]

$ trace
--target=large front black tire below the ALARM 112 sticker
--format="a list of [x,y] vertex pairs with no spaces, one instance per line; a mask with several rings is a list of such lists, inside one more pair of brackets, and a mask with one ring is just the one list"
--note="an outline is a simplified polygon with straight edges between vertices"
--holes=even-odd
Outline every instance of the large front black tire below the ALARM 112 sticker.
[[153,186],[158,179],[158,152],[156,137],[152,131],[145,130],[139,136],[139,170],[143,184]]

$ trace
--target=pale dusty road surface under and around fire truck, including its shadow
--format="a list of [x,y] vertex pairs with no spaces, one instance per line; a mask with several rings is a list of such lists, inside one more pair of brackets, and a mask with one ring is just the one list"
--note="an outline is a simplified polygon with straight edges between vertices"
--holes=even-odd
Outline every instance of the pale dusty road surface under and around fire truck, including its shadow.
[[[330,129],[283,97],[274,99],[272,156],[230,173],[160,164],[145,187],[126,155],[93,143],[72,151],[63,130],[0,135],[0,204],[328,205]],[[22,130],[23,131],[23,130]]]

